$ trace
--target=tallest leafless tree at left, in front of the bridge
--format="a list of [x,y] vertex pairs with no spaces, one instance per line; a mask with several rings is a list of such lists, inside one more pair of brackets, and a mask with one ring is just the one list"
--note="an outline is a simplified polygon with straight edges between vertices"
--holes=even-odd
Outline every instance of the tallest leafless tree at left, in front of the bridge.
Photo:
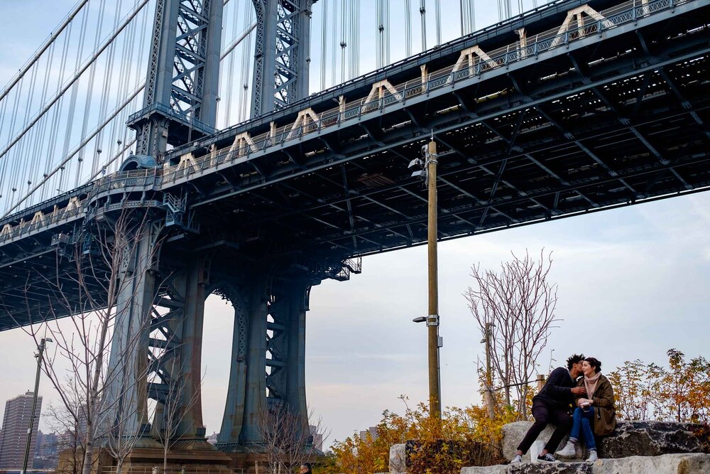
[[[116,217],[103,215],[100,221],[89,221],[67,248],[58,248],[53,274],[40,275],[45,302],[31,305],[30,295],[37,291],[33,285],[38,286],[35,281],[28,279],[25,288],[27,314],[35,318],[26,333],[35,343],[44,335],[53,339],[53,354],[45,357],[43,370],[69,418],[82,427],[83,440],[77,444],[84,451],[83,474],[91,473],[97,443],[115,431],[105,416],[116,412],[119,398],[116,394],[107,397],[107,387],[126,371],[133,372],[121,379],[121,392],[130,392],[140,379],[136,353],[143,329],[148,327],[150,308],[135,315],[138,323],[133,332],[117,335],[115,324],[127,311],[133,311],[133,301],[143,298],[141,283],[159,247],[158,232],[146,217],[142,210],[124,208]],[[136,250],[141,245],[147,252]],[[69,316],[64,320],[69,321],[68,329],[64,327],[67,323],[57,321],[63,316]],[[109,369],[109,351],[116,336],[123,339],[113,357],[121,362]]]

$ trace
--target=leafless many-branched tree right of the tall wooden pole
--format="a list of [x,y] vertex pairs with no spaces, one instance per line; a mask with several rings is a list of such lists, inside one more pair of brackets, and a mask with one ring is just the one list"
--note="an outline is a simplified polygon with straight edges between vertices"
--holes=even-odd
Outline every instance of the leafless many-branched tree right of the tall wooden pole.
[[537,358],[547,345],[553,323],[559,321],[555,318],[557,284],[548,278],[551,257],[544,249],[539,259],[532,259],[528,252],[522,259],[513,254],[498,272],[474,265],[474,286],[464,293],[484,338],[490,338],[489,357],[503,398],[512,406],[515,390],[515,408],[523,419],[528,416],[525,398]]

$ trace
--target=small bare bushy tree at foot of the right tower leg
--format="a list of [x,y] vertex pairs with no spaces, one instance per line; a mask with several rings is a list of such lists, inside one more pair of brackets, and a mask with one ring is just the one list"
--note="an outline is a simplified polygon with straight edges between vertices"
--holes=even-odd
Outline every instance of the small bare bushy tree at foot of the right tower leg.
[[[302,463],[319,454],[312,446],[313,436],[327,439],[329,431],[318,419],[315,425],[303,425],[303,419],[285,403],[273,403],[258,413],[266,462],[272,474],[293,473]],[[308,419],[311,419],[309,411]],[[313,434],[312,434],[313,433]]]

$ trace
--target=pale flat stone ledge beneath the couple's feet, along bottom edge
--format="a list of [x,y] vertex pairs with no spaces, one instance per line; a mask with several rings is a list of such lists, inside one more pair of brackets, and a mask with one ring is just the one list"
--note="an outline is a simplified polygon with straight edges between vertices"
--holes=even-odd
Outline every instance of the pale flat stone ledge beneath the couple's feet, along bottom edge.
[[461,474],[704,474],[710,454],[664,454],[599,459],[596,463],[520,463],[462,468]]

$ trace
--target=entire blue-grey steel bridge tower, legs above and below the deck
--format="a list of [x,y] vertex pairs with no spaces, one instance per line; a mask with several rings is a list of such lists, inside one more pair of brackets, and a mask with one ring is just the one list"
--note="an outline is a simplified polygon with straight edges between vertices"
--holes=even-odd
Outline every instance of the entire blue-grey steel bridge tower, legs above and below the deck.
[[[258,20],[254,116],[307,96],[312,3],[253,0]],[[156,166],[168,145],[214,132],[223,6],[222,0],[158,0],[143,109],[129,118],[136,130],[136,156],[124,170]],[[168,214],[184,214],[189,200],[189,193],[163,195]],[[288,406],[308,429],[305,313],[310,288],[320,279],[303,264],[275,260],[268,252],[224,252],[214,259],[220,244],[210,242],[208,232],[203,236],[189,229],[201,250],[180,245],[182,231],[171,233],[180,225],[159,214],[149,217],[126,256],[120,279],[128,283],[119,295],[109,360],[109,372],[120,376],[111,379],[107,393],[116,399],[111,406],[136,404],[129,426],[142,434],[144,450],[165,432],[166,414],[177,407],[182,414],[173,427],[180,441],[175,446],[183,454],[190,451],[188,456],[225,463],[226,456],[208,453],[214,447],[205,439],[200,388],[204,301],[217,293],[234,308],[229,389],[217,448],[241,463],[260,451],[259,419],[270,408]],[[129,344],[136,350],[126,360]],[[152,420],[148,399],[157,404]]]

